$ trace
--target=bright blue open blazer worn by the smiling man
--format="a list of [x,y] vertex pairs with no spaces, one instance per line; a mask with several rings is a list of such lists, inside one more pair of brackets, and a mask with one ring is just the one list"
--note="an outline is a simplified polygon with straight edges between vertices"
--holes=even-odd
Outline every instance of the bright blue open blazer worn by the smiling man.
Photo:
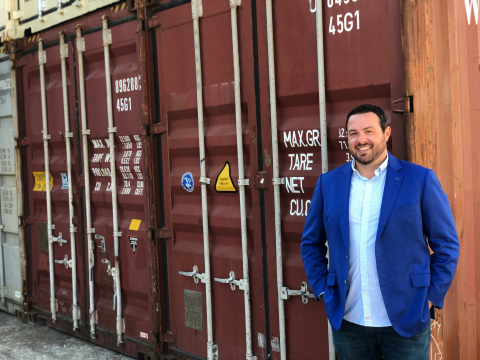
[[[320,175],[301,243],[308,281],[316,297],[325,292],[334,331],[347,296],[351,178],[350,163]],[[427,326],[428,301],[443,307],[459,252],[448,198],[435,173],[389,154],[375,255],[387,314],[400,335],[413,336]]]

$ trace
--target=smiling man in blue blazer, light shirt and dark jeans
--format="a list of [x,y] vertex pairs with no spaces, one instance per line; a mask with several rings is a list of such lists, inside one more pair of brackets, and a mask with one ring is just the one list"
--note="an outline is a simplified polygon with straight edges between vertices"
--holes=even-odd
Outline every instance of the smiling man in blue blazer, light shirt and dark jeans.
[[354,160],[320,175],[305,222],[308,281],[340,360],[428,360],[429,308],[443,307],[460,251],[447,196],[432,170],[387,151],[379,107],[356,107],[346,129]]

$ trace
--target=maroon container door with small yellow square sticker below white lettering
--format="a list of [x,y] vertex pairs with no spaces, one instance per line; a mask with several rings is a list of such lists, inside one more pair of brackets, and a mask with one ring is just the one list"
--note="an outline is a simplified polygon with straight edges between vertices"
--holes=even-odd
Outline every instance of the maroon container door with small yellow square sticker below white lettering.
[[[98,17],[99,20],[101,17]],[[105,330],[117,332],[117,301],[122,296],[126,351],[133,344],[156,342],[153,333],[150,277],[151,224],[146,196],[146,152],[142,114],[142,84],[139,37],[136,22],[112,27],[109,46],[114,143],[109,142],[107,90],[102,32],[84,36],[85,102],[90,168],[91,216],[95,229],[94,300],[100,338]],[[114,146],[115,159],[110,156]],[[85,154],[82,153],[83,156]],[[112,187],[110,164],[116,164],[117,188]],[[115,267],[112,191],[117,192],[121,288],[114,289],[110,267]],[[87,249],[85,248],[85,251]],[[118,270],[116,270],[118,271]],[[155,306],[155,308],[154,308]],[[116,345],[116,344],[113,344]],[[121,349],[117,347],[118,349]],[[142,350],[143,352],[144,350]]]

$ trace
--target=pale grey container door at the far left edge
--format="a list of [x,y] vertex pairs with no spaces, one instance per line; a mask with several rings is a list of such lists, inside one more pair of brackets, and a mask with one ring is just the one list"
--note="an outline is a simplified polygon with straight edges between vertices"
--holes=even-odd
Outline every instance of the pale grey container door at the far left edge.
[[[3,48],[0,52],[3,52]],[[0,309],[22,309],[22,262],[18,234],[17,184],[10,59],[0,57]],[[3,286],[3,288],[2,288]],[[2,304],[1,301],[5,300]]]

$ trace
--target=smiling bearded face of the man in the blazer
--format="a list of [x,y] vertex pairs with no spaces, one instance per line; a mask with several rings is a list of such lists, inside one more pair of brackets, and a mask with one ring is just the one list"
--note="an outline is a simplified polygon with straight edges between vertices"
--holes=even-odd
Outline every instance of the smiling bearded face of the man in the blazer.
[[380,119],[374,113],[352,115],[348,120],[347,131],[348,148],[360,164],[374,163],[386,155],[391,128],[387,126],[383,132]]

